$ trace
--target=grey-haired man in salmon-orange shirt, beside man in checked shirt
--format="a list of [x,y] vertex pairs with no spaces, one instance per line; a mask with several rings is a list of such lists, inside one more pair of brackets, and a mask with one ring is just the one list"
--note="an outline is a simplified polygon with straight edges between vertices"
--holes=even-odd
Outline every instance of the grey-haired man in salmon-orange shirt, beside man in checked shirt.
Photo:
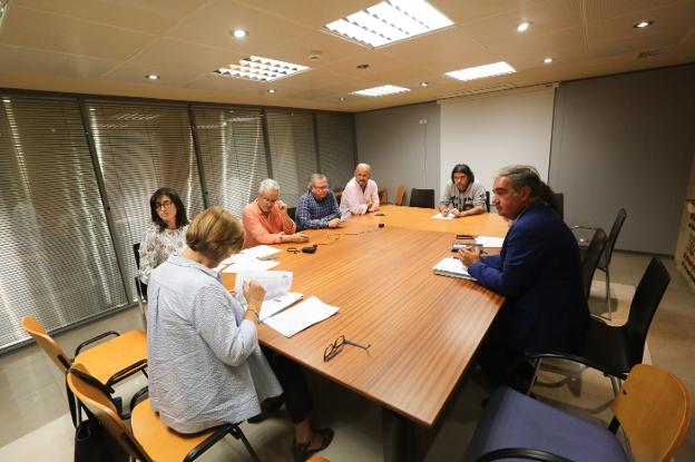
[[278,199],[280,185],[271,178],[261,181],[258,196],[244,207],[244,248],[261,244],[305,243],[309,236],[296,233],[287,205]]

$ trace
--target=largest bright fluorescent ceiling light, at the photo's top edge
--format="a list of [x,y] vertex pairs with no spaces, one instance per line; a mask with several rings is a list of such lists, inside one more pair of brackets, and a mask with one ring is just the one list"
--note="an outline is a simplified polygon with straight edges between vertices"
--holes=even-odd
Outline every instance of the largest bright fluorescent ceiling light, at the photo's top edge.
[[324,28],[369,47],[382,47],[409,39],[453,22],[424,0],[385,0]]

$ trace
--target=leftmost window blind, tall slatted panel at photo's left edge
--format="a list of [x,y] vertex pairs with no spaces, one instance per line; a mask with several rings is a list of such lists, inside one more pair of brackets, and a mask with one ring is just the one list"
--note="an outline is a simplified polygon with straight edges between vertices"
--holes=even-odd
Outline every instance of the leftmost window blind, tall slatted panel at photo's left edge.
[[0,346],[128,302],[76,99],[0,96]]

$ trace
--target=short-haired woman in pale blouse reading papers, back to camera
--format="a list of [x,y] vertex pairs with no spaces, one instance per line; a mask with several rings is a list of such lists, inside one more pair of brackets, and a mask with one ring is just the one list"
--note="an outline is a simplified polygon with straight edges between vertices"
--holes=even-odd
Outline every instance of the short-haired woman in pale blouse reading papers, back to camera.
[[333,431],[310,426],[312,400],[302,368],[258,346],[263,286],[244,286],[244,311],[221,283],[215,267],[243,244],[242,223],[223,207],[211,207],[190,224],[184,252],[153,272],[147,316],[151,407],[174,430],[195,433],[255,416],[264,400],[284,392],[294,424],[292,455],[304,461],[331,443]]

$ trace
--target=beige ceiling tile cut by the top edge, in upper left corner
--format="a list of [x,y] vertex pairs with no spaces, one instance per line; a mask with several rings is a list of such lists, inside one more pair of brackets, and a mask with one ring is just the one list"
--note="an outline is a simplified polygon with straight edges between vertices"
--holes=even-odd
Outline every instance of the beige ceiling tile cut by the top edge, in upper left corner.
[[12,4],[124,29],[164,33],[200,2],[198,0],[12,0]]

